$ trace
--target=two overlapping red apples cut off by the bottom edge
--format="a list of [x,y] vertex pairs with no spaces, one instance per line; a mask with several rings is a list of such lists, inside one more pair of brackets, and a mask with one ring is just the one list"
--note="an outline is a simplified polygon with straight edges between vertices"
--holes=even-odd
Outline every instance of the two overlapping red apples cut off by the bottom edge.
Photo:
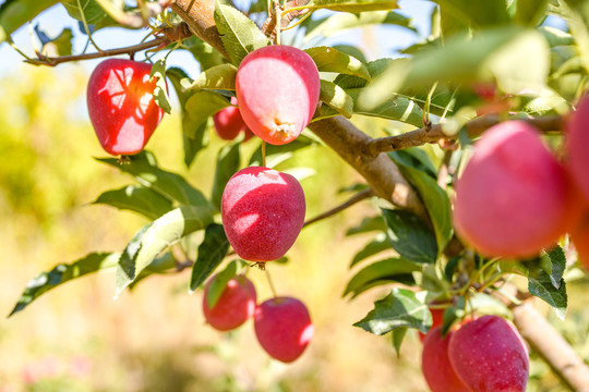
[[486,315],[423,339],[421,369],[432,392],[525,392],[529,354],[514,326]]

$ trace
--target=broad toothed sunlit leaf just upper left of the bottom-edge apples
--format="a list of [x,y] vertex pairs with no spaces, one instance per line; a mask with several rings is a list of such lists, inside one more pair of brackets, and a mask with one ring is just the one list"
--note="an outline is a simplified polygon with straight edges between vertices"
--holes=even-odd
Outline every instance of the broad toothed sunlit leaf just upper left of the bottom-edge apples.
[[366,317],[353,326],[377,335],[404,327],[426,333],[432,327],[432,314],[412,291],[393,289],[390,294],[374,303],[374,309]]

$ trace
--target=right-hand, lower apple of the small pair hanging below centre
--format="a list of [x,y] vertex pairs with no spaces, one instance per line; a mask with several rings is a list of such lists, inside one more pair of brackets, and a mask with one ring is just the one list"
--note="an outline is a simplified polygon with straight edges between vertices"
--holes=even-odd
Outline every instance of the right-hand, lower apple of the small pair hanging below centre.
[[254,328],[266,353],[284,363],[301,356],[314,332],[306,306],[291,297],[276,297],[259,305]]

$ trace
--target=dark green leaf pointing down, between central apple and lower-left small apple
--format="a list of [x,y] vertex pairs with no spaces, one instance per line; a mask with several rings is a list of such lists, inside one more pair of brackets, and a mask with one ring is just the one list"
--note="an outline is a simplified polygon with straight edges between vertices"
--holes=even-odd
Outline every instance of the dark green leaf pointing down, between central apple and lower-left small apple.
[[196,287],[213,273],[221,264],[229,250],[229,241],[225,235],[225,230],[220,224],[211,224],[206,228],[205,237],[199,246],[199,257],[192,267],[192,277],[190,279],[190,292],[193,293]]

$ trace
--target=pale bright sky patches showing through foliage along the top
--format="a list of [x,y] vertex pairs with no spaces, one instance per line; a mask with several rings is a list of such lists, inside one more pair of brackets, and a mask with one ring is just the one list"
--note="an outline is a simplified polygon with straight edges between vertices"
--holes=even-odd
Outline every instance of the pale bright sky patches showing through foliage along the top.
[[[247,0],[245,0],[247,1]],[[244,0],[238,1],[238,7],[244,2]],[[352,44],[362,46],[366,49],[366,56],[369,60],[375,60],[382,57],[395,57],[398,49],[405,48],[411,42],[422,40],[430,30],[430,14],[434,4],[429,1],[421,0],[400,0],[401,13],[413,17],[414,26],[418,28],[419,34],[416,35],[406,28],[399,26],[382,26],[373,27],[370,29],[353,29],[348,33],[337,35],[322,42],[322,45],[336,45],[336,44]],[[25,53],[33,57],[34,47],[33,40],[38,46],[38,39],[31,34],[32,27],[37,26],[48,37],[57,37],[63,28],[70,27],[74,32],[73,50],[74,52],[81,52],[86,45],[86,36],[80,34],[77,22],[71,19],[65,9],[61,4],[57,4],[47,11],[39,14],[32,23],[32,26],[22,26],[16,33],[12,35],[15,45]],[[121,34],[122,33],[122,34]],[[144,38],[145,30],[122,30],[121,28],[105,28],[93,34],[93,38],[96,40],[100,48],[112,49],[118,47],[124,47],[139,42]],[[369,45],[365,40],[369,40]],[[375,41],[372,41],[375,40]],[[113,42],[116,45],[113,45]],[[12,49],[8,44],[0,44],[0,77],[2,75],[12,74],[22,64],[22,57]],[[82,66],[93,69],[100,60],[84,61]],[[180,66],[187,69],[189,75],[195,77],[194,72],[191,70],[199,70],[197,63],[193,60],[192,56],[185,51],[176,51],[168,58],[168,66]],[[187,66],[188,64],[194,64],[196,66]],[[26,65],[31,66],[31,65]]]

